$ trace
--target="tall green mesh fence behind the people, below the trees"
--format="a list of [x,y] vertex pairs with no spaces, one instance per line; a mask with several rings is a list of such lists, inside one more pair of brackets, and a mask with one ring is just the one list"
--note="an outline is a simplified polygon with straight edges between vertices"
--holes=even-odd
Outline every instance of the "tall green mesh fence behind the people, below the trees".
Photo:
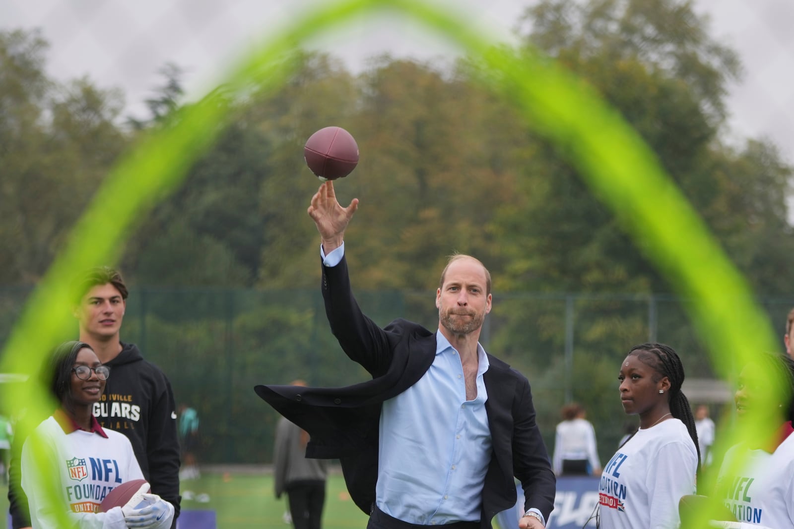
[[[2,335],[9,334],[28,294],[25,288],[0,289]],[[437,327],[433,292],[359,292],[357,298],[381,326],[399,316]],[[692,404],[712,404],[719,415],[730,397],[728,385],[714,381],[686,302],[676,297],[494,293],[494,299],[480,341],[529,378],[549,450],[560,408],[579,401],[595,425],[602,457],[614,451],[632,420],[619,404],[619,363],[638,343],[668,343],[679,352]],[[794,297],[761,304],[782,338]],[[278,416],[256,397],[255,385],[301,378],[338,386],[368,379],[331,335],[319,290],[132,289],[121,339],[136,343],[164,370],[177,404],[198,411],[204,463],[270,462]],[[715,393],[715,385],[721,391]]]

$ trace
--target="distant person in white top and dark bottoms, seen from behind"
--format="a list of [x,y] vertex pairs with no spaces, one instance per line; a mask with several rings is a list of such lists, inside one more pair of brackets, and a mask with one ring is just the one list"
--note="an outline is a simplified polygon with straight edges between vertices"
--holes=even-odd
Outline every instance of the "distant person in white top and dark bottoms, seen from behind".
[[557,424],[552,457],[552,468],[557,476],[601,474],[595,429],[585,416],[584,408],[576,402],[562,408],[563,420]]

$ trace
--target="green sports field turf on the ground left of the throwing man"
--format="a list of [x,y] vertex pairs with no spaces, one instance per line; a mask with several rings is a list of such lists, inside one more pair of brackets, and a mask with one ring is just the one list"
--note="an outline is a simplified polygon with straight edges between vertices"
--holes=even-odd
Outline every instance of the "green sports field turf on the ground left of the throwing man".
[[[207,494],[210,501],[183,500],[183,509],[213,509],[218,529],[289,529],[281,518],[287,504],[282,496],[273,496],[273,478],[269,473],[202,473],[198,480],[182,482],[182,493],[191,491],[194,498]],[[0,528],[6,527],[8,499],[6,486],[0,487]],[[323,529],[364,529],[367,516],[350,500],[341,474],[331,474],[323,513]]]

